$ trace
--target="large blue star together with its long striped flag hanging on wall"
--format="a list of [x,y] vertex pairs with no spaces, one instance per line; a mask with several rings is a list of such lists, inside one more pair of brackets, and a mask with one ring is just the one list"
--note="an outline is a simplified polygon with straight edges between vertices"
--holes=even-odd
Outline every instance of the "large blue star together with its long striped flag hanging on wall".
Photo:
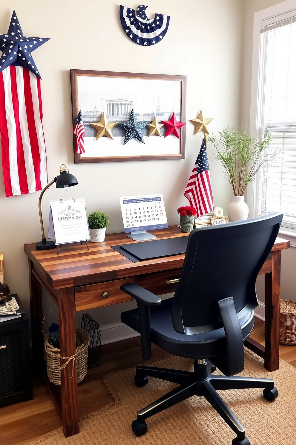
[[6,196],[47,185],[40,74],[31,52],[49,39],[25,37],[16,12],[0,34],[0,134]]

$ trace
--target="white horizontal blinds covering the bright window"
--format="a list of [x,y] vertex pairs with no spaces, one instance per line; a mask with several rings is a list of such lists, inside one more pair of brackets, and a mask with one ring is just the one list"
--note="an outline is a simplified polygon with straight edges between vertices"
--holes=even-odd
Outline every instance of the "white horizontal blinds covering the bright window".
[[296,229],[296,11],[262,23],[258,124],[274,139],[276,161],[260,171],[258,214],[284,213],[282,226]]

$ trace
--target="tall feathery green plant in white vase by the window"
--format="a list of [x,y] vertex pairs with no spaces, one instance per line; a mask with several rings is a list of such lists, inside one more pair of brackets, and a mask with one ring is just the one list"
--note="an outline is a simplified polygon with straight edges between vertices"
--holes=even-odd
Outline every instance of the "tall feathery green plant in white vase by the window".
[[217,150],[217,158],[225,169],[225,178],[233,189],[233,201],[228,207],[229,221],[246,219],[249,214],[249,207],[244,201],[247,186],[259,170],[272,162],[278,154],[277,151],[268,150],[273,136],[266,134],[264,138],[252,138],[242,126],[239,131],[224,128],[218,135],[218,142],[213,134],[207,140]]

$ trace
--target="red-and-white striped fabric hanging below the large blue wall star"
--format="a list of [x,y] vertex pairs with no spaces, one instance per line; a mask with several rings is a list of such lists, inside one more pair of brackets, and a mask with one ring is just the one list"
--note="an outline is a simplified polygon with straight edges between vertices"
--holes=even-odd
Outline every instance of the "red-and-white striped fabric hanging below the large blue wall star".
[[0,72],[0,134],[6,196],[47,185],[40,78],[23,66]]

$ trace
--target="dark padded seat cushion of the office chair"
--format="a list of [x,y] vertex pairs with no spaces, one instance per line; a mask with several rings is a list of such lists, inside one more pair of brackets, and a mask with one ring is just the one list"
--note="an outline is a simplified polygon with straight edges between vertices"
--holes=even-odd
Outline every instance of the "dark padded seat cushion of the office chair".
[[[172,323],[173,298],[162,300],[159,306],[150,308],[151,341],[167,352],[194,359],[217,356],[221,351],[225,351],[224,328],[193,335],[180,334],[174,330]],[[121,321],[140,332],[138,309],[122,312]],[[254,312],[247,313],[239,321],[245,340],[254,326]]]

